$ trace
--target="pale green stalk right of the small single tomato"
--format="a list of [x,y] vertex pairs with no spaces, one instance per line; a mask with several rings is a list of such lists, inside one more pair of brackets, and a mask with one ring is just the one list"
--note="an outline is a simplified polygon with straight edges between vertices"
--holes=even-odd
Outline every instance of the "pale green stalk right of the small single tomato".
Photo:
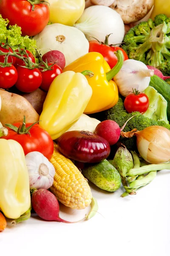
[[155,121],[164,121],[167,124],[169,124],[167,120],[166,99],[164,99],[164,97],[160,93],[158,93],[156,89],[154,89],[151,86],[148,86],[144,90],[144,93],[149,98],[149,108],[145,113],[143,113],[143,116],[146,116]]

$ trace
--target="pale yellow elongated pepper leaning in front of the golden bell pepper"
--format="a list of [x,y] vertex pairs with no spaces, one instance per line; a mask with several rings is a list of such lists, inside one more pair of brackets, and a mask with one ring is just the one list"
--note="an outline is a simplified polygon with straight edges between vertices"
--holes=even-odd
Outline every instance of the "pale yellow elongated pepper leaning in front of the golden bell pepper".
[[68,71],[51,83],[45,99],[40,125],[53,140],[76,122],[91,99],[92,89],[81,73]]

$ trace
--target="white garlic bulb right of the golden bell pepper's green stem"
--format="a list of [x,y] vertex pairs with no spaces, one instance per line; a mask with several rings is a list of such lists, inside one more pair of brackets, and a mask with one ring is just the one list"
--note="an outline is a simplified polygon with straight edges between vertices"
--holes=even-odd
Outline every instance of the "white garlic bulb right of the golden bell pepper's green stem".
[[114,77],[119,93],[126,97],[133,89],[142,93],[150,83],[154,70],[149,70],[142,61],[129,59],[124,61],[121,70]]

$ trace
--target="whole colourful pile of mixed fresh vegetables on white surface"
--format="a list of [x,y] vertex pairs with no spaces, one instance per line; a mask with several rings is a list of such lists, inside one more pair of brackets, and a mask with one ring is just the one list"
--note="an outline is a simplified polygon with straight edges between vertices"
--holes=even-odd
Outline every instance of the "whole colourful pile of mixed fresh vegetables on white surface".
[[133,26],[144,2],[0,1],[0,231],[170,169],[170,14]]

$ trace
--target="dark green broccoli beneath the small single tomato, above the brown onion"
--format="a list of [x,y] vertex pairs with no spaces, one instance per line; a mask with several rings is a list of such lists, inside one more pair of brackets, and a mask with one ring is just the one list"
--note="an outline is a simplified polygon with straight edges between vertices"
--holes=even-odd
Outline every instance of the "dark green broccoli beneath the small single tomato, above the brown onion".
[[[125,124],[125,122],[130,117],[134,116],[132,119],[130,119],[127,122],[127,125],[125,126],[123,131],[132,131],[135,128],[138,131],[142,131],[144,128],[147,128],[152,125],[160,125],[160,126],[166,127],[167,129],[170,130],[170,125],[164,121],[157,122],[157,121],[152,120],[146,116],[143,116],[139,112],[127,113],[124,108],[123,99],[120,97],[119,97],[118,103],[113,108],[103,111],[102,114],[100,112],[100,116],[102,117],[99,119],[100,121],[111,119],[111,120],[115,121],[119,125],[120,128]],[[128,138],[128,139],[121,138],[121,140],[129,150],[136,150],[136,137],[132,137],[132,138]]]

